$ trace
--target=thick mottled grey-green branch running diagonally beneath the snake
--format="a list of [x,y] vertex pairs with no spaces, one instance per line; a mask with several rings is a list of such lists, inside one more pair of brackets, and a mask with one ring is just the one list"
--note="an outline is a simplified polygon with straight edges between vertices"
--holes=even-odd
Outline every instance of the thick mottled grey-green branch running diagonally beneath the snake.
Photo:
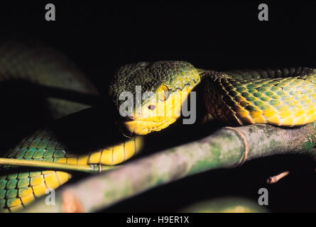
[[[314,155],[316,123],[296,128],[256,124],[224,127],[192,143],[130,162],[56,192],[55,206],[38,199],[26,212],[92,212],[188,175],[285,153]],[[71,199],[69,199],[71,198]]]

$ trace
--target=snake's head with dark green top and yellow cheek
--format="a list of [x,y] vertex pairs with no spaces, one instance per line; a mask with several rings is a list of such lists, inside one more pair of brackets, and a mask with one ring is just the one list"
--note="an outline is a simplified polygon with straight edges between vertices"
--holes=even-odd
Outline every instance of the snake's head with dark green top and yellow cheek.
[[183,101],[200,82],[188,62],[138,62],[120,67],[109,87],[127,135],[146,135],[180,117]]

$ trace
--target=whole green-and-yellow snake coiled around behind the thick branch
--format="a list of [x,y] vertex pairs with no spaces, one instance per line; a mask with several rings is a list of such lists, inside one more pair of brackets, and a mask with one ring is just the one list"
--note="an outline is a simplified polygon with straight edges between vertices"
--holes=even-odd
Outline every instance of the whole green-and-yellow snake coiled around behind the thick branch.
[[[98,93],[67,57],[37,45],[1,45],[0,75],[1,81],[20,77],[33,84]],[[206,114],[230,125],[268,123],[293,127],[316,120],[316,70],[309,67],[219,72],[202,70],[185,61],[137,62],[114,72],[109,85],[113,105],[106,106],[116,109],[118,131],[128,138],[78,155],[54,131],[44,127],[26,135],[3,157],[69,165],[119,164],[142,150],[148,133],[167,128],[180,118],[183,104],[197,85],[203,87]],[[121,106],[126,101],[121,98],[124,92],[152,95],[143,97],[138,105],[135,101],[128,116],[121,116]],[[56,118],[89,107],[58,99],[48,101]],[[157,114],[159,110],[163,114]],[[63,170],[24,170],[11,165],[4,165],[0,171],[6,170],[11,172],[0,175],[0,210],[5,212],[21,211],[45,195],[47,189],[57,189],[72,177]]]

